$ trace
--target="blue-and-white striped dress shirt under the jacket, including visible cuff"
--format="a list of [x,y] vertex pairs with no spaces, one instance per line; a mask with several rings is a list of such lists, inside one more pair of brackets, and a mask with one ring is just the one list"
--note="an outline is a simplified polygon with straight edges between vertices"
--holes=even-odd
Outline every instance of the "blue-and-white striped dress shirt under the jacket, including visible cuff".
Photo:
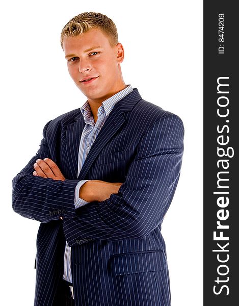
[[[103,126],[105,120],[108,118],[110,112],[112,111],[115,104],[120,101],[123,97],[129,94],[132,91],[131,85],[127,85],[127,87],[119,92],[117,92],[112,97],[104,100],[102,105],[98,108],[98,118],[96,123],[94,122],[94,118],[91,115],[90,105],[88,100],[86,103],[80,108],[84,120],[85,127],[82,132],[81,141],[79,143],[79,152],[78,152],[78,175],[81,172],[82,166],[87,158],[87,155],[90,151],[91,146],[93,145],[101,127]],[[75,208],[79,208],[88,204],[89,202],[79,197],[79,189],[82,187],[84,183],[89,180],[79,181],[75,188]],[[63,279],[65,281],[72,283],[72,274],[71,274],[71,249],[66,242],[65,253],[64,253],[64,274]]]

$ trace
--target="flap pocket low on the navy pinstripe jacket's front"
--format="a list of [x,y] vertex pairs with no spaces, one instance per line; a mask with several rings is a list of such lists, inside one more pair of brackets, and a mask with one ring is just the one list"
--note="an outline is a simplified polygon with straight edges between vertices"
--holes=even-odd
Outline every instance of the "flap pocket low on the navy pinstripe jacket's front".
[[162,271],[166,268],[166,258],[163,250],[115,254],[110,258],[110,267],[114,275]]

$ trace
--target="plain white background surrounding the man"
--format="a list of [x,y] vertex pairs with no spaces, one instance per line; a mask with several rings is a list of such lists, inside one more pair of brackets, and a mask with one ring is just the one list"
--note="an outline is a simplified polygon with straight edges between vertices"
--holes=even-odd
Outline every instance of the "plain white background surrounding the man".
[[86,101],[68,74],[60,45],[64,25],[85,11],[116,23],[125,83],[184,123],[181,176],[162,233],[172,306],[203,304],[202,9],[198,0],[15,0],[2,6],[1,304],[33,305],[40,223],[14,213],[11,181],[37,152],[46,122]]

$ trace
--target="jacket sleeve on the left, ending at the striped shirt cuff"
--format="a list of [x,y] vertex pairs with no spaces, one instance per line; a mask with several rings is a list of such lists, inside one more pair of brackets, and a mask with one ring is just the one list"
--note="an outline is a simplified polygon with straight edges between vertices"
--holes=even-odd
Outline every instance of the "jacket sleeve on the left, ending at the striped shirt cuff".
[[13,210],[23,217],[40,222],[59,220],[61,216],[75,216],[74,197],[78,180],[63,182],[33,175],[33,164],[37,159],[51,158],[46,140],[49,123],[44,127],[37,154],[12,181]]

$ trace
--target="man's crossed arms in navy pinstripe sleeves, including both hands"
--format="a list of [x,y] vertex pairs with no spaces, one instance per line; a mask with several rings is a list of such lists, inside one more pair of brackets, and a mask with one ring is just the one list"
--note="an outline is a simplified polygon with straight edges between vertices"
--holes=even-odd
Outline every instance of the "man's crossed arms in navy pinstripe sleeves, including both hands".
[[77,209],[74,200],[78,181],[65,178],[51,163],[54,155],[46,141],[47,126],[36,156],[13,179],[12,203],[16,213],[44,223],[64,216],[69,246],[76,244],[79,233],[91,239],[143,238],[162,223],[181,168],[184,130],[179,117],[169,114],[148,127],[122,185],[85,182],[79,197],[89,203]]

